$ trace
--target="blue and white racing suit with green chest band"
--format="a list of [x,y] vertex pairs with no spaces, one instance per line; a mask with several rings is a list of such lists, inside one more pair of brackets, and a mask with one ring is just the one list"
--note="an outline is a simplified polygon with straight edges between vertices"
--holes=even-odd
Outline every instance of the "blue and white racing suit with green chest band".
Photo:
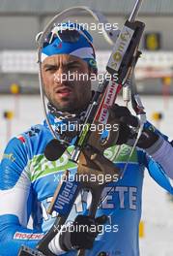
[[[22,244],[34,248],[57,216],[55,211],[49,215],[46,209],[64,171],[74,172],[76,165],[68,160],[66,152],[57,161],[48,161],[43,152],[50,140],[52,135],[43,122],[12,139],[5,149],[0,166],[0,256],[17,255]],[[106,149],[105,156],[123,168],[130,149],[124,144],[116,156],[117,146],[112,146]],[[163,166],[161,168],[152,157],[136,149],[123,179],[109,183],[102,191],[104,197],[112,188],[97,211],[97,216],[108,216],[109,226],[105,226],[93,248],[87,251],[87,256],[97,256],[101,252],[109,256],[139,255],[138,225],[145,167],[162,187],[172,193]],[[86,214],[90,203],[91,194],[81,191],[67,222],[77,214]],[[30,216],[33,217],[33,229],[27,228]],[[57,251],[57,255],[63,253]],[[64,255],[76,255],[76,251]]]

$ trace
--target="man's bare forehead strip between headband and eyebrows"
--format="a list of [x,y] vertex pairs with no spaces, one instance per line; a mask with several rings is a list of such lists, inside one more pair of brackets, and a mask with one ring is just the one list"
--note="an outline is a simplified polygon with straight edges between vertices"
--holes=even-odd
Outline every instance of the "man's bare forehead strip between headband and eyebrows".
[[43,65],[45,64],[56,65],[59,63],[66,65],[73,62],[85,63],[85,61],[83,61],[82,59],[76,56],[72,56],[70,54],[56,54],[56,55],[46,57],[43,60]]

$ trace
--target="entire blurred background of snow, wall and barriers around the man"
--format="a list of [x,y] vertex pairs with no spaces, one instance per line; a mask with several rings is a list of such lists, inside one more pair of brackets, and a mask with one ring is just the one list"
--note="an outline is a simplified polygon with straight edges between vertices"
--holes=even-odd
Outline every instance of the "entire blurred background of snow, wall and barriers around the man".
[[[35,37],[50,18],[69,7],[83,5],[100,11],[108,22],[118,23],[121,29],[134,2],[0,0],[0,156],[10,138],[43,120]],[[80,23],[95,22],[85,14],[69,19]],[[135,70],[137,89],[148,119],[172,140],[173,1],[143,0],[138,19],[145,22],[146,28],[140,46],[143,54]],[[104,72],[112,47],[101,33],[90,32],[94,37],[99,71]],[[172,256],[172,235],[172,197],[168,197],[146,172],[140,227],[141,255]]]

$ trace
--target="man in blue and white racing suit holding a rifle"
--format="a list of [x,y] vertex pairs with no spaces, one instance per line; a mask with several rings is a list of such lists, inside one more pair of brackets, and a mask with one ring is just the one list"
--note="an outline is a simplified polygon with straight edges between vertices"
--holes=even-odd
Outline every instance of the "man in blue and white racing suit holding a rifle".
[[[92,98],[91,80],[62,80],[62,76],[69,71],[74,75],[88,74],[89,78],[97,72],[92,38],[81,27],[79,30],[79,34],[76,30],[70,32],[68,29],[65,34],[60,32],[58,37],[54,36],[43,47],[44,93],[49,101],[48,118],[55,132],[63,122],[85,112]],[[123,169],[130,154],[130,146],[124,143],[129,141],[129,125],[134,116],[128,109],[117,105],[110,113],[120,125],[118,144],[123,145],[118,155],[116,145],[108,148],[105,155]],[[155,152],[159,150],[163,144],[161,136],[148,129],[146,134],[143,133],[138,145],[148,150],[153,148]],[[53,225],[57,213],[53,211],[49,215],[46,209],[64,171],[68,169],[73,173],[76,165],[68,161],[66,153],[57,161],[48,161],[43,153],[51,140],[52,135],[44,121],[12,139],[6,147],[0,169],[1,256],[17,255],[22,244],[35,248]],[[102,230],[62,231],[49,242],[47,255],[76,255],[79,248],[88,249],[86,255],[90,256],[139,255],[138,224],[145,167],[168,182],[157,162],[143,150],[135,150],[123,178],[110,182],[104,188],[101,195],[104,200],[97,211],[97,218],[86,216],[91,202],[91,195],[87,191],[82,191],[74,203],[67,227],[71,222],[74,228],[77,225],[88,228],[101,225]],[[28,229],[31,215],[33,229]]]

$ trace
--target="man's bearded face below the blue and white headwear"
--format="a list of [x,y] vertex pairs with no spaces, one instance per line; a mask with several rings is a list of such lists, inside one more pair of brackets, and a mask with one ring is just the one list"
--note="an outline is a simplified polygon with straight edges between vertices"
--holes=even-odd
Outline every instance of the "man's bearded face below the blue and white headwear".
[[[59,111],[77,112],[88,106],[92,92],[85,61],[68,54],[52,55],[43,60],[42,73],[44,93]],[[86,75],[79,80],[79,74]]]

